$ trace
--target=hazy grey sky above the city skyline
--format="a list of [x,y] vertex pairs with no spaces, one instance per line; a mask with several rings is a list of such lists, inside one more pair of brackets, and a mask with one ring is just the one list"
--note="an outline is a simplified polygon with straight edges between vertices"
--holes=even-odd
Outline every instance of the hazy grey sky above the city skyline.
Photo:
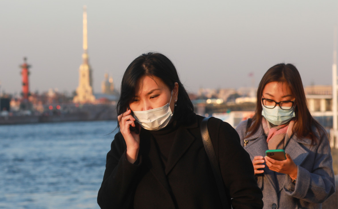
[[76,89],[83,5],[95,93],[104,73],[119,90],[129,63],[149,51],[166,55],[193,93],[257,87],[281,62],[297,67],[304,86],[332,84],[337,0],[12,0],[0,7],[1,92],[21,92],[23,57],[31,92]]

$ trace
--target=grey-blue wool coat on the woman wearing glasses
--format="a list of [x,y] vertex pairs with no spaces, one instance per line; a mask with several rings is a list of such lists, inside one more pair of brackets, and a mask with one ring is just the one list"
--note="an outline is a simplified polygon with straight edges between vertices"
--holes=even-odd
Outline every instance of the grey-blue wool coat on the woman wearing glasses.
[[[243,147],[246,125],[247,121],[242,121],[236,128]],[[316,133],[319,135],[318,131]],[[258,186],[263,192],[264,208],[321,208],[321,203],[334,193],[329,140],[326,135],[319,138],[314,146],[311,146],[310,139],[297,138],[295,135],[290,138],[285,152],[297,165],[295,184],[289,175],[270,171],[267,166],[263,174],[256,175]],[[248,143],[244,149],[251,160],[255,156],[265,156],[268,146],[263,127],[245,140]]]

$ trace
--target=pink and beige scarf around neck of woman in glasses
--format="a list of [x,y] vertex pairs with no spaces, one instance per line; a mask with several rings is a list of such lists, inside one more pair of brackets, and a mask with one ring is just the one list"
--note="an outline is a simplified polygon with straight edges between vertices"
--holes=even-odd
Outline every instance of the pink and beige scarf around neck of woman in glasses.
[[280,126],[271,126],[271,124],[262,117],[262,126],[266,136],[269,150],[285,149],[293,131],[295,121],[292,119],[289,123]]

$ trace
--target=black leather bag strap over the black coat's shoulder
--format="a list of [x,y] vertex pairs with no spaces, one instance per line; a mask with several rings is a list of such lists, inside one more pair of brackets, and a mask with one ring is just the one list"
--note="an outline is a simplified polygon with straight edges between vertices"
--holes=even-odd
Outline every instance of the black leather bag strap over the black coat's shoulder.
[[223,184],[223,179],[221,176],[221,171],[218,166],[218,161],[217,157],[215,154],[214,146],[212,144],[209,131],[208,131],[208,121],[210,117],[206,117],[202,120],[201,122],[201,136],[202,136],[202,141],[204,145],[204,149],[206,149],[212,171],[214,173],[214,177],[216,180],[217,188],[218,188],[218,193],[219,197],[221,199],[221,203],[223,208],[228,208],[228,202],[227,202],[227,197],[225,194],[225,189],[224,189],[224,184]]

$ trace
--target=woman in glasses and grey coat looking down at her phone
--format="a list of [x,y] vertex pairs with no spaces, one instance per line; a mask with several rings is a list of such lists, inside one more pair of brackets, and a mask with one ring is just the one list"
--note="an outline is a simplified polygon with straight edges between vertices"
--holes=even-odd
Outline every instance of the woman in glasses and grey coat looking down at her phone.
[[[264,208],[321,208],[335,191],[328,135],[313,119],[299,72],[276,64],[263,76],[252,119],[236,128],[250,154]],[[285,150],[285,160],[265,156]]]

